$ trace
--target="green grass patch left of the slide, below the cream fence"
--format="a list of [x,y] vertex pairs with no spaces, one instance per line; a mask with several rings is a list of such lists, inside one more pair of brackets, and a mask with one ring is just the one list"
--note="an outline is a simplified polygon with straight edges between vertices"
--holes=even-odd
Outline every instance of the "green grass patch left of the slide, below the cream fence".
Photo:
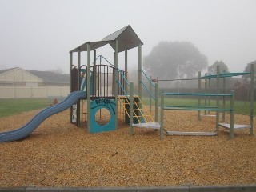
[[30,110],[38,110],[50,106],[49,98],[2,98],[0,99],[0,117],[21,114]]

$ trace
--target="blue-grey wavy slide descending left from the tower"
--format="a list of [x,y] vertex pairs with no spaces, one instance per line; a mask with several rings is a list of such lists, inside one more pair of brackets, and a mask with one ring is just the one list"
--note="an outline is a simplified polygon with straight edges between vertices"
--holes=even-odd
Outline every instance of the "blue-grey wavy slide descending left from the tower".
[[57,105],[50,106],[34,116],[25,126],[22,126],[18,130],[10,130],[0,133],[0,142],[12,142],[21,138],[25,138],[31,134],[46,118],[51,115],[58,114],[63,110],[68,109],[78,99],[85,98],[85,91],[74,91],[63,101]]

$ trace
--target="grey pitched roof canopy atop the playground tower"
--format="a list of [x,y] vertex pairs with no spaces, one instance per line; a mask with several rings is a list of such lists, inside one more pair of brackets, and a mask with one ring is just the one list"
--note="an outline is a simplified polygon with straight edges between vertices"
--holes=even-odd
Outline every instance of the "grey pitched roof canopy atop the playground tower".
[[110,44],[110,46],[115,50],[115,40],[118,40],[118,52],[124,50],[130,50],[134,47],[137,47],[139,44],[142,44],[142,41],[138,38],[138,35],[135,34],[131,26],[126,26],[121,30],[114,32],[98,42],[85,42],[81,46],[76,47],[74,50],[70,50],[70,53],[80,51],[87,51],[87,44],[90,44],[90,50],[96,50],[101,46]]

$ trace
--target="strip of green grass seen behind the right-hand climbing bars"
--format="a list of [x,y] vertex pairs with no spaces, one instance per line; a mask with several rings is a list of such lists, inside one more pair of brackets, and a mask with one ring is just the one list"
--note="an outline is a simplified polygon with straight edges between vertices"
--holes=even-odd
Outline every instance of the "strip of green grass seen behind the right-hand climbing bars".
[[[144,104],[149,105],[149,98],[142,98]],[[154,106],[154,100],[152,100]],[[159,101],[160,104],[160,101]],[[165,98],[165,106],[198,106],[198,99],[188,99],[188,98]],[[205,100],[201,99],[201,105],[205,105]],[[222,100],[219,101],[220,107],[222,107]],[[208,100],[206,102],[206,106],[208,106]],[[216,100],[210,101],[210,106],[216,106]],[[230,101],[226,101],[225,108],[230,108]],[[256,102],[254,102],[254,114],[256,112]],[[234,102],[234,114],[246,114],[250,115],[250,102]]]

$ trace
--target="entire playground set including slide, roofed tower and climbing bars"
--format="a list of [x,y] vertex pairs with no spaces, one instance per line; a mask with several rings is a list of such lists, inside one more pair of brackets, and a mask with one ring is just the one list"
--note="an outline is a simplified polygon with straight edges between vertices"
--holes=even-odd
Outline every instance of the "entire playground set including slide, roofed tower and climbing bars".
[[[97,57],[96,50],[102,46],[110,45],[114,49],[114,64],[112,65],[102,55]],[[134,134],[134,127],[148,128],[153,130],[160,130],[160,139],[164,137],[163,133],[163,119],[164,110],[197,110],[198,119],[201,119],[200,112],[216,111],[216,132],[214,133],[180,133],[177,131],[166,131],[166,135],[217,135],[218,127],[223,126],[230,130],[230,138],[234,138],[234,129],[250,128],[250,135],[253,135],[253,118],[254,118],[254,66],[251,66],[250,73],[218,73],[215,75],[206,75],[201,77],[198,74],[198,94],[180,94],[180,93],[164,93],[159,91],[158,80],[152,81],[145,71],[142,70],[142,41],[130,26],[126,26],[121,30],[114,32],[103,38],[98,42],[86,42],[81,46],[70,50],[70,95],[61,103],[55,106],[50,106],[37,114],[25,126],[18,130],[6,131],[0,133],[0,142],[10,142],[25,138],[33,132],[46,118],[53,114],[57,114],[70,108],[70,122],[78,127],[84,126],[89,133],[98,133],[105,131],[117,130],[118,128],[118,113],[124,116],[124,120],[130,126],[130,135]],[[138,47],[138,94],[134,94],[134,83],[128,82],[128,50]],[[81,65],[81,53],[86,51],[87,61],[86,65]],[[91,51],[94,52],[93,62],[91,65]],[[125,51],[125,70],[118,68],[118,53]],[[78,66],[73,64],[73,54],[78,53]],[[104,60],[107,64],[102,64]],[[98,63],[99,62],[99,63]],[[98,64],[97,64],[98,63]],[[234,92],[230,94],[219,93],[219,78],[226,78],[238,76],[242,74],[250,74],[250,126],[234,125]],[[142,82],[142,76],[145,76],[147,83]],[[200,93],[201,80],[217,78],[218,93]],[[160,81],[160,80],[159,80]],[[142,87],[146,89],[150,95],[150,111],[152,99],[154,100],[155,110],[154,118],[151,117],[150,112],[146,109],[142,102]],[[154,94],[152,93],[154,88]],[[190,95],[197,96],[198,106],[165,106],[164,99],[167,95]],[[161,96],[161,104],[159,105],[159,96]],[[209,106],[203,106],[200,97],[208,97]],[[210,97],[216,98],[216,106],[210,106]],[[223,97],[222,108],[219,105],[220,97]],[[225,98],[230,97],[230,108],[226,109]],[[206,104],[206,101],[205,101]],[[159,121],[159,106],[160,106],[160,121]],[[97,122],[97,118],[101,118],[101,111],[106,110],[110,119],[101,124]],[[230,112],[230,123],[219,123],[219,112],[222,111],[225,117],[225,111]],[[99,113],[99,117],[98,117]],[[83,121],[84,118],[84,121]],[[223,118],[222,118],[223,119]],[[225,121],[225,120],[224,120]]]

